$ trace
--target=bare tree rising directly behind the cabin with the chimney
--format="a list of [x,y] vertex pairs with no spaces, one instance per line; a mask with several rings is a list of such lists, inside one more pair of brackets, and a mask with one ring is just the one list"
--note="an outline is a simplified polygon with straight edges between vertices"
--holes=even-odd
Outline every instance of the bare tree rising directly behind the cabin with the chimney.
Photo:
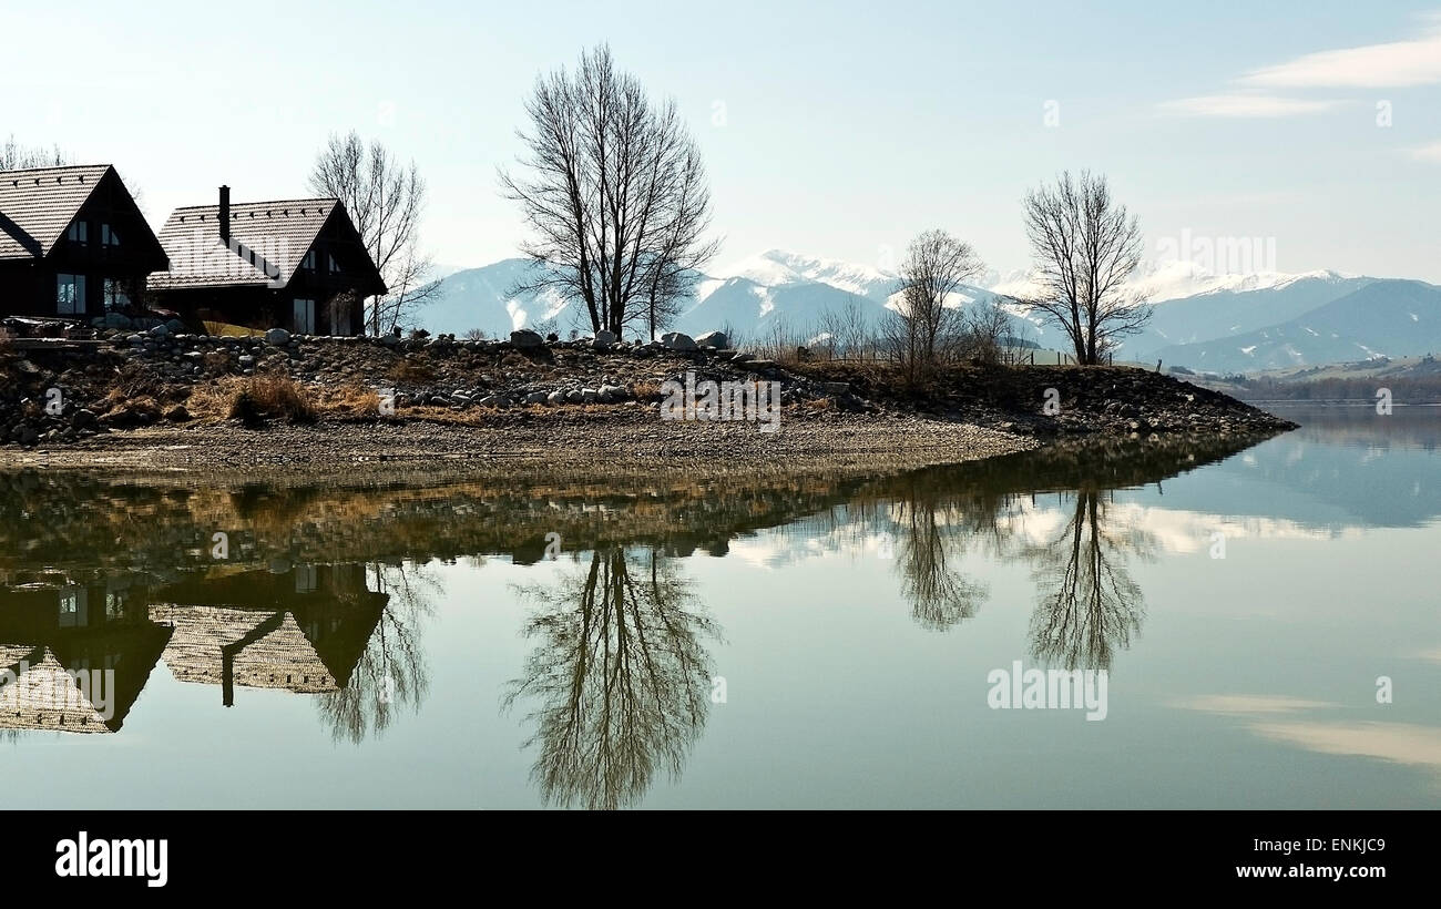
[[344,203],[389,292],[369,301],[372,334],[414,323],[441,288],[434,264],[419,251],[425,180],[415,161],[402,164],[385,145],[352,131],[331,135],[316,157],[310,189]]

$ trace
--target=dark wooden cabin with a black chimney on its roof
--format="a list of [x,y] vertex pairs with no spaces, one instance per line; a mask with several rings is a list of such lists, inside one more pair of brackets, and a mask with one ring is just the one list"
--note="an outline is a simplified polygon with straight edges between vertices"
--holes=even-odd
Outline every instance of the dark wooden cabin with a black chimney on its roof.
[[169,271],[150,277],[156,305],[192,324],[365,334],[365,300],[386,292],[337,199],[176,209],[160,230]]

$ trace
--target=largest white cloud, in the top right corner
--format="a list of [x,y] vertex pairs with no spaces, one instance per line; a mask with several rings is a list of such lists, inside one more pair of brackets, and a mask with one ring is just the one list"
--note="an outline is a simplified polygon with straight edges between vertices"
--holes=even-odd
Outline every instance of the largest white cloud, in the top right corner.
[[1441,13],[1422,16],[1424,35],[1383,45],[1306,53],[1241,78],[1261,88],[1411,88],[1441,84]]

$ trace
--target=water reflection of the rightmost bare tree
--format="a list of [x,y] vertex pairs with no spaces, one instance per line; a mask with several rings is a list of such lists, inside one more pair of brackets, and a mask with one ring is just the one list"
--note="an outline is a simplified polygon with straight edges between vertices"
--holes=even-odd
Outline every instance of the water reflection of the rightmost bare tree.
[[1038,566],[1030,618],[1032,655],[1048,666],[1110,668],[1117,648],[1140,634],[1146,605],[1127,568],[1128,555],[1150,558],[1144,530],[1111,520],[1094,484],[1075,493],[1071,519],[1050,540],[1029,546]]

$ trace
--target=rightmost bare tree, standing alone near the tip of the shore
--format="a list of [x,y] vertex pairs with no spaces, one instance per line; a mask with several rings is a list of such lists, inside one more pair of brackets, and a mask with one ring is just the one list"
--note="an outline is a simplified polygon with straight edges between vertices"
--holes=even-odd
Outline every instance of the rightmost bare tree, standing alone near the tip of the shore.
[[1144,300],[1125,288],[1141,264],[1141,229],[1111,197],[1104,176],[1062,173],[1026,194],[1026,235],[1040,292],[1022,300],[1071,340],[1078,363],[1095,364],[1150,318]]

